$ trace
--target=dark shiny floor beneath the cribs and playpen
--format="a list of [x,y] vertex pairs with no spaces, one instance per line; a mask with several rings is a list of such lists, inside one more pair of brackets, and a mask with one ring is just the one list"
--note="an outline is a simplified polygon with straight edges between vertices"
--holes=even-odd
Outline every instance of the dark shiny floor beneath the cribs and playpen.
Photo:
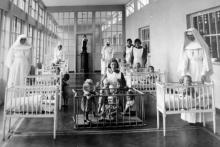
[[[99,81],[100,74],[73,75],[70,84],[73,88],[80,88],[86,78]],[[0,107],[0,130],[2,130],[2,112]],[[68,147],[68,146],[220,146],[220,114],[217,114],[217,134],[212,133],[212,124],[206,128],[190,126],[180,119],[180,115],[167,117],[167,136],[163,136],[162,130],[156,129],[156,118],[146,119],[146,126],[132,129],[90,129],[76,130],[72,120],[72,100],[69,100],[68,109],[62,109],[58,113],[57,139],[53,140],[52,119],[22,119],[21,125],[14,134],[5,142],[0,141],[0,147]],[[162,119],[161,119],[162,120]],[[162,123],[161,123],[162,124]],[[0,132],[2,137],[2,131]]]

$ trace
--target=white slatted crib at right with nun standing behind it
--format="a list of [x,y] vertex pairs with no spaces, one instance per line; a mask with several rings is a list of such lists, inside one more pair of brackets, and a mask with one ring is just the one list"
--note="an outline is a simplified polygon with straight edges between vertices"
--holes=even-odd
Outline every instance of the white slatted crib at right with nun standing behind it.
[[159,112],[163,115],[163,133],[166,135],[166,115],[181,113],[199,113],[205,126],[204,113],[213,114],[213,131],[216,132],[215,98],[213,83],[193,83],[185,86],[178,83],[156,83],[157,128]]

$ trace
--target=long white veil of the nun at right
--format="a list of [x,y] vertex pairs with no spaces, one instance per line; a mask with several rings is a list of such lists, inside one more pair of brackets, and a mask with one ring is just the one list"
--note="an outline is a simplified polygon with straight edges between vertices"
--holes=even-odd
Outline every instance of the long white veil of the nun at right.
[[[188,45],[190,40],[188,39],[186,33],[187,32],[192,32],[193,36],[195,37],[195,40],[201,45],[202,49],[204,50],[204,58],[203,58],[203,71],[205,71],[204,74],[212,74],[213,73],[213,68],[212,68],[212,62],[209,54],[209,47],[202,38],[202,36],[199,34],[199,32],[195,28],[189,28],[188,30],[185,31],[184,33],[184,44],[180,53],[180,58],[179,58],[179,65],[177,71],[180,74],[183,74],[185,72],[184,69],[184,52],[185,52],[185,47]],[[202,73],[201,73],[202,74]]]

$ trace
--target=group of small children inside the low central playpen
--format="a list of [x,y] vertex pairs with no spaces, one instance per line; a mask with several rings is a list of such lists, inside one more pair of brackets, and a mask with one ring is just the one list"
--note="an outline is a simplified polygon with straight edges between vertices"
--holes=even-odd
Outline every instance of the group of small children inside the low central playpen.
[[[123,111],[123,100],[117,94],[124,94],[126,97]],[[115,88],[107,78],[99,87],[95,86],[91,79],[87,79],[83,83],[83,97],[81,99],[84,123],[91,121],[89,113],[99,118],[99,121],[116,120],[119,115],[125,115],[129,108],[135,104],[135,98],[132,94],[133,92],[129,89]]]

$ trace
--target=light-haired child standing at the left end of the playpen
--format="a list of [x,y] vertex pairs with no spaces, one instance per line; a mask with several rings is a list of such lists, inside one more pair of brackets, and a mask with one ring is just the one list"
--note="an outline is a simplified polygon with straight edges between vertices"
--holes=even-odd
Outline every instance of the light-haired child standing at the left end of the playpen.
[[[84,112],[84,122],[89,123],[89,112],[93,110],[93,105],[96,108],[94,92],[94,84],[91,79],[87,79],[83,84],[83,98],[81,100],[81,109]],[[95,112],[93,115],[96,116]]]

